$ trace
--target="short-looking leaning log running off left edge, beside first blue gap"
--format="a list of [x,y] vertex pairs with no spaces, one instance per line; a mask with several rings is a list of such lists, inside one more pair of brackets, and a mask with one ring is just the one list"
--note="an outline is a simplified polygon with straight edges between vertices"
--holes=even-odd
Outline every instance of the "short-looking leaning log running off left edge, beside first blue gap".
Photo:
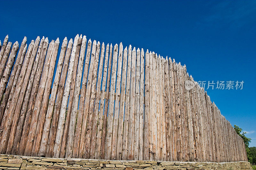
[[3,99],[5,87],[8,83],[9,76],[11,74],[12,66],[13,66],[13,63],[14,63],[14,60],[15,60],[18,49],[19,49],[19,43],[18,43],[18,41],[16,41],[12,46],[12,51],[10,53],[8,62],[7,62],[6,67],[4,69],[4,74],[3,74],[2,78],[1,78],[1,81],[0,81],[0,99]]

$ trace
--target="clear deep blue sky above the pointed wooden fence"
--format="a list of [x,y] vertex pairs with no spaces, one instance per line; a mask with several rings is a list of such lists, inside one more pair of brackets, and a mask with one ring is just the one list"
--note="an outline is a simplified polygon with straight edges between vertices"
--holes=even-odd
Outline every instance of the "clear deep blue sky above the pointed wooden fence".
[[207,93],[256,146],[256,1],[1,1],[0,12],[2,42],[79,33],[168,55],[196,81],[243,80],[242,90]]

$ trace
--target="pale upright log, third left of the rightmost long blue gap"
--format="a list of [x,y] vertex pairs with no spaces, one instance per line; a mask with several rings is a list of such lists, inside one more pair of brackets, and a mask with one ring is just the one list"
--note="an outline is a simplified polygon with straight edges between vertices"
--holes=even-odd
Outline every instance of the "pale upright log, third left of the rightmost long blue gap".
[[135,116],[135,76],[136,76],[136,49],[132,50],[131,64],[131,87],[130,87],[130,103],[129,103],[129,130],[128,130],[128,160],[134,159],[134,116]]

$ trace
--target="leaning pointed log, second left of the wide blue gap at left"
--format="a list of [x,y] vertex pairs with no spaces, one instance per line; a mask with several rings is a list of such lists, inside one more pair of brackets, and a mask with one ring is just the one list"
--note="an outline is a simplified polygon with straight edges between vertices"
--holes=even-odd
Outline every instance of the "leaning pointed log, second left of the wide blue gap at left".
[[[50,63],[51,63],[51,55],[52,55],[53,46],[54,46],[54,41],[52,40],[52,42],[49,43],[49,47],[47,50],[47,55],[46,55],[45,62],[44,62],[44,68],[43,68],[42,76],[41,76],[40,83],[38,86],[38,93],[36,95],[36,101],[35,101],[34,109],[32,112],[31,125],[29,128],[28,141],[27,141],[30,144],[26,145],[25,153],[24,153],[27,156],[31,155],[32,150],[33,150],[33,144],[34,144],[35,136],[36,136],[36,127],[37,127],[37,122],[38,122],[39,115],[40,115],[40,110],[41,110],[43,96],[44,96],[44,90],[45,90],[45,86],[46,86],[46,82],[47,82],[47,78],[48,78],[48,72],[49,72],[49,67],[50,67]],[[48,98],[48,100],[49,100],[49,98]],[[41,119],[41,117],[40,117],[40,119]],[[33,152],[32,155],[37,155],[37,154],[35,152]]]

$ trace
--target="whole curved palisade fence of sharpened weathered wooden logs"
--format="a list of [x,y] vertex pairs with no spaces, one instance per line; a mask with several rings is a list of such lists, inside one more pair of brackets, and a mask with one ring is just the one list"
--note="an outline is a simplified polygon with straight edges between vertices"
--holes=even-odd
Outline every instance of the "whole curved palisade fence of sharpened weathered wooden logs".
[[185,65],[82,35],[59,44],[0,42],[0,153],[247,161],[242,138]]

